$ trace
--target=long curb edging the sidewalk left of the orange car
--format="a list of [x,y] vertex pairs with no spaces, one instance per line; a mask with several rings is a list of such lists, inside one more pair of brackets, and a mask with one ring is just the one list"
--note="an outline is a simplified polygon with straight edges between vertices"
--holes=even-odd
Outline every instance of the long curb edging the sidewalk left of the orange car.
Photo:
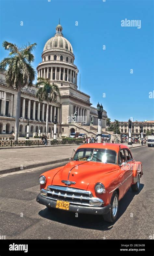
[[44,166],[44,165],[59,163],[59,162],[66,162],[66,161],[69,161],[69,158],[63,158],[63,159],[58,159],[58,160],[49,161],[49,162],[42,162],[42,163],[29,164],[29,165],[27,165],[27,166],[23,166],[23,169],[21,169],[21,166],[19,166],[19,167],[13,167],[13,168],[10,168],[10,169],[1,170],[1,171],[0,171],[0,175],[1,175],[1,174],[5,174],[5,173],[17,172],[17,171],[21,171],[21,170],[27,170],[27,169],[31,169],[31,168],[35,168],[35,167],[39,167],[39,166]]

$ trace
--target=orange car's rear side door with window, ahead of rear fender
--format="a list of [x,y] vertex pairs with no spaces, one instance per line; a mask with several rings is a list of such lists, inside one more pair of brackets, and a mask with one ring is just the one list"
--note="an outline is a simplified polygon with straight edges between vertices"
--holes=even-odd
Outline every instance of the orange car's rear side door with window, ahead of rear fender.
[[133,158],[130,150],[125,148],[124,149],[125,155],[125,173],[124,173],[124,191],[130,188],[132,184],[132,175],[133,175]]

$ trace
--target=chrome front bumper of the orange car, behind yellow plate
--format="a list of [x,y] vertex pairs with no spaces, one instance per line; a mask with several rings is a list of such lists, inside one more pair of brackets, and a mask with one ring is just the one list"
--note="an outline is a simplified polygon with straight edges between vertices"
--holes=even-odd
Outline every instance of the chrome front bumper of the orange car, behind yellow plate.
[[[56,208],[56,203],[57,203],[56,200],[46,198],[45,196],[42,196],[41,194],[39,194],[37,196],[36,201],[40,204],[46,205],[48,208]],[[104,207],[91,207],[91,206],[82,206],[82,205],[77,205],[77,204],[70,204],[68,211],[74,212],[74,213],[102,215],[102,214],[108,213],[110,211],[110,209],[111,209],[110,204],[108,204],[107,206],[104,206]],[[63,211],[66,211],[66,210],[63,210]]]

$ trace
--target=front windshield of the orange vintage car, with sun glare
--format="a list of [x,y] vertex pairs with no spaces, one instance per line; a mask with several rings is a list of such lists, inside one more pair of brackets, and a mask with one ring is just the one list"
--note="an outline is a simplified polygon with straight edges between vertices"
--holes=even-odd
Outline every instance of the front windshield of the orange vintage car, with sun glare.
[[103,163],[117,163],[117,153],[105,148],[79,148],[73,161],[92,161]]

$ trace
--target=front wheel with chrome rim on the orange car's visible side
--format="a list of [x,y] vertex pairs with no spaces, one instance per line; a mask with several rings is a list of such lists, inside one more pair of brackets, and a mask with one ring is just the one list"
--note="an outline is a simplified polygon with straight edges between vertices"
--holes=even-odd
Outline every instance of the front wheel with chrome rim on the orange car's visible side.
[[103,218],[107,222],[114,222],[117,219],[118,209],[119,209],[119,197],[116,191],[114,191],[111,197],[111,209],[109,213],[103,215]]

